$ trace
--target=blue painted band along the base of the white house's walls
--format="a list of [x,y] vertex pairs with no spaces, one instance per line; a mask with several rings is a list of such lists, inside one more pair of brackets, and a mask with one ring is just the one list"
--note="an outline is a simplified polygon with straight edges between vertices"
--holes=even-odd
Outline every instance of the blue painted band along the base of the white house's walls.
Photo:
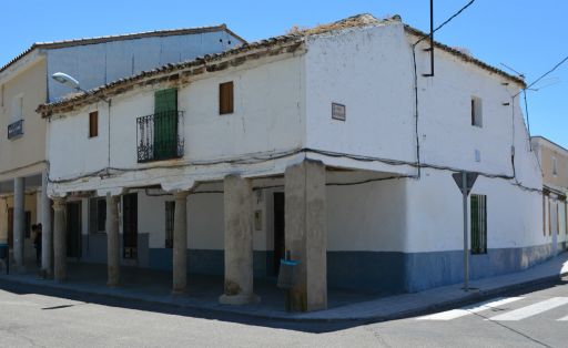
[[[142,239],[148,239],[143,237]],[[87,262],[104,263],[103,240],[90,240]],[[141,240],[143,259],[140,267],[172,270],[172,249],[148,248]],[[145,243],[144,243],[145,242]],[[145,244],[145,245],[144,245]],[[97,247],[95,247],[97,246]],[[105,245],[104,245],[105,246]],[[145,246],[145,247],[143,247]],[[93,249],[101,249],[93,253]],[[558,250],[566,250],[559,243]],[[254,276],[274,277],[274,253],[254,252]],[[488,249],[484,255],[470,255],[470,279],[519,272],[551,257],[551,245],[523,248]],[[327,285],[331,288],[367,294],[415,293],[464,282],[462,250],[433,253],[398,252],[327,252]],[[191,274],[224,274],[224,252],[189,249],[187,270]]]

